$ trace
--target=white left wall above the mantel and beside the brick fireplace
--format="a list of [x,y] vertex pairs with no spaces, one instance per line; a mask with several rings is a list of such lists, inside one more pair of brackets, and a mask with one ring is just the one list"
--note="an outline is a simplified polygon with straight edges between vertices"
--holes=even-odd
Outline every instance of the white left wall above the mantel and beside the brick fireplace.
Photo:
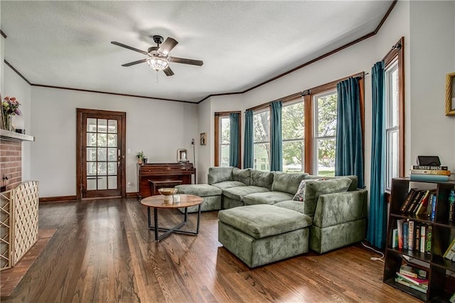
[[[1,64],[4,65],[4,64]],[[26,134],[33,136],[31,128],[31,86],[21,77],[11,70],[9,66],[4,65],[4,90],[1,91],[1,97],[16,97],[21,103],[19,110],[22,115],[15,115],[13,124],[16,128],[26,129]],[[22,180],[31,179],[31,147],[35,142],[22,142]]]

